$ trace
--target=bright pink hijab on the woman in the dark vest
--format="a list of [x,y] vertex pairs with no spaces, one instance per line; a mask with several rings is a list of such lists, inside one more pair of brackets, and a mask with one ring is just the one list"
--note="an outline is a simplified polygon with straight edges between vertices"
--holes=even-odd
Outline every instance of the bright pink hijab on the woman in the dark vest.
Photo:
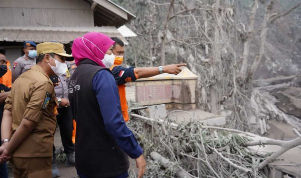
[[98,32],[90,32],[78,37],[72,45],[72,56],[78,66],[83,59],[90,59],[99,66],[105,67],[101,62],[105,53],[115,42],[110,37]]

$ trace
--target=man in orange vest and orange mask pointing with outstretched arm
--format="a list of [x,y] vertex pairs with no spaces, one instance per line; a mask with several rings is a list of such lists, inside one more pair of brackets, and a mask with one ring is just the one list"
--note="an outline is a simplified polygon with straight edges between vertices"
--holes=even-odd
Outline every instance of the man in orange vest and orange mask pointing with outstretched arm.
[[169,74],[179,74],[182,69],[182,66],[186,66],[186,64],[171,64],[166,66],[159,66],[159,67],[142,67],[142,68],[134,68],[134,67],[122,67],[121,64],[123,62],[124,56],[124,43],[117,37],[111,38],[115,41],[113,45],[112,52],[115,55],[114,65],[110,68],[115,79],[118,84],[119,89],[119,97],[120,97],[120,104],[122,115],[127,122],[129,120],[128,117],[128,106],[126,103],[126,96],[125,96],[125,83],[132,82],[139,78],[146,78],[146,77],[153,77],[155,75],[169,73]]

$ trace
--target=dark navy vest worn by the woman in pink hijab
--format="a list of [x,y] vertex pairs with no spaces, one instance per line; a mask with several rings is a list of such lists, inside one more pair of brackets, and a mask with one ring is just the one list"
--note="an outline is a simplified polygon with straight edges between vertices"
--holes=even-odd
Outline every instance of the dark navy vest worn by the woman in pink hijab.
[[75,166],[93,178],[121,175],[129,167],[127,154],[105,129],[92,87],[93,77],[100,70],[108,69],[85,59],[75,69],[68,85],[68,98],[76,119]]

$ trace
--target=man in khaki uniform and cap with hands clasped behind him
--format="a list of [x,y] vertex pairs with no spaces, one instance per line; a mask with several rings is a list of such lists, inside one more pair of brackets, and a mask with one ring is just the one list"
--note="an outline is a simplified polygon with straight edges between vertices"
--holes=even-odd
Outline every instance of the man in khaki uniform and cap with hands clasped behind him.
[[11,158],[15,178],[51,177],[58,102],[49,76],[66,72],[64,46],[37,45],[37,65],[15,81],[1,126],[0,163]]

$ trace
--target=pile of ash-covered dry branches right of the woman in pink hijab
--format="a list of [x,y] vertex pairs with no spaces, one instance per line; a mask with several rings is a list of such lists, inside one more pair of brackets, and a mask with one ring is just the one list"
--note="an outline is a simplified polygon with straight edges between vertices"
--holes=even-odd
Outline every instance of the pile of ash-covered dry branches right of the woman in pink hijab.
[[194,119],[177,130],[136,119],[129,127],[148,157],[146,177],[175,177],[179,171],[191,177],[264,177],[256,167],[265,157],[243,146],[251,141],[247,136],[204,128]]

